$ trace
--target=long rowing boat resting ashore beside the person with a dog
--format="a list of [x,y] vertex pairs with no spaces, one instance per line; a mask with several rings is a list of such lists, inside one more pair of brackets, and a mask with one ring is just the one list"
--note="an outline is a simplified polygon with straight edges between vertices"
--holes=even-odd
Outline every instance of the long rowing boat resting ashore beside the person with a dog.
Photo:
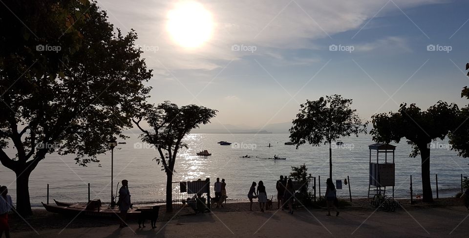
[[[101,201],[92,200],[88,203],[66,203],[59,202],[54,199],[56,205],[43,204],[47,212],[63,214],[67,216],[101,216],[101,217],[117,217],[120,213],[119,207],[101,207]],[[140,215],[139,208],[130,208],[127,212],[128,219],[137,218]]]

